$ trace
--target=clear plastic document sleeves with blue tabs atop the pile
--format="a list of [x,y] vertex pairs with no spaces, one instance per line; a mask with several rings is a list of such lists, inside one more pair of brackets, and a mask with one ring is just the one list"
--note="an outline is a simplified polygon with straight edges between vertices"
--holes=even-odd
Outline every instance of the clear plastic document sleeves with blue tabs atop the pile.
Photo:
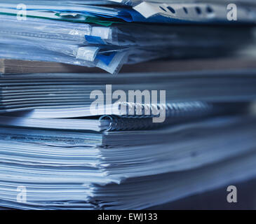
[[230,56],[254,43],[253,3],[243,2],[230,20],[226,2],[125,3],[128,6],[101,0],[0,1],[0,57],[118,73],[123,64]]

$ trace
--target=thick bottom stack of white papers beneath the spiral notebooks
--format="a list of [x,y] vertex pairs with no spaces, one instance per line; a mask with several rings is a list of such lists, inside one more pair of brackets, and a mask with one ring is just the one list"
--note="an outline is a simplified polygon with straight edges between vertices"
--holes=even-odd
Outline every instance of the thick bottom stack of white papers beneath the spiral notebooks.
[[255,123],[235,116],[129,132],[2,127],[0,204],[144,209],[243,181],[255,176]]

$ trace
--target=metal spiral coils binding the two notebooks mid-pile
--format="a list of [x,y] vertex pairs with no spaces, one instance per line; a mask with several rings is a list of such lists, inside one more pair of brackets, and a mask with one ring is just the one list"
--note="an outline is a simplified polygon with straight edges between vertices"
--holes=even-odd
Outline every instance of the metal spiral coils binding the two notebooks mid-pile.
[[[134,104],[134,103],[121,103],[128,106],[127,111],[140,110],[142,115],[137,116],[136,113],[132,115],[105,115],[101,116],[100,120],[109,120],[109,127],[106,131],[126,131],[126,130],[147,130],[178,121],[184,121],[190,118],[201,118],[202,116],[210,116],[220,112],[218,106],[204,102],[184,102],[173,104]],[[151,118],[157,117],[156,110],[166,110],[166,120],[163,123],[153,123]],[[147,115],[147,113],[149,113]],[[146,113],[143,114],[143,113]],[[173,119],[175,118],[175,119]]]

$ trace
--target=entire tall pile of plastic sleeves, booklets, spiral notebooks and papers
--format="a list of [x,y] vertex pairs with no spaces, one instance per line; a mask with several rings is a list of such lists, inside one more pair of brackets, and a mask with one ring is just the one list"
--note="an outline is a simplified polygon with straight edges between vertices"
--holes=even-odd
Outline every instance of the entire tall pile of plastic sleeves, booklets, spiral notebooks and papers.
[[255,179],[254,1],[12,0],[0,18],[0,207],[149,209]]

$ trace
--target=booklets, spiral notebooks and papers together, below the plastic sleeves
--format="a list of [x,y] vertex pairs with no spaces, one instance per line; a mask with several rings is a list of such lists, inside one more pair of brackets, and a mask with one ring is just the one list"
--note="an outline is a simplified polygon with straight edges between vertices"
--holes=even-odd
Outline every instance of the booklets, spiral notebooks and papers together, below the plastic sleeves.
[[[255,177],[255,73],[2,75],[0,207],[146,209]],[[166,103],[99,101],[95,115],[105,83]]]

